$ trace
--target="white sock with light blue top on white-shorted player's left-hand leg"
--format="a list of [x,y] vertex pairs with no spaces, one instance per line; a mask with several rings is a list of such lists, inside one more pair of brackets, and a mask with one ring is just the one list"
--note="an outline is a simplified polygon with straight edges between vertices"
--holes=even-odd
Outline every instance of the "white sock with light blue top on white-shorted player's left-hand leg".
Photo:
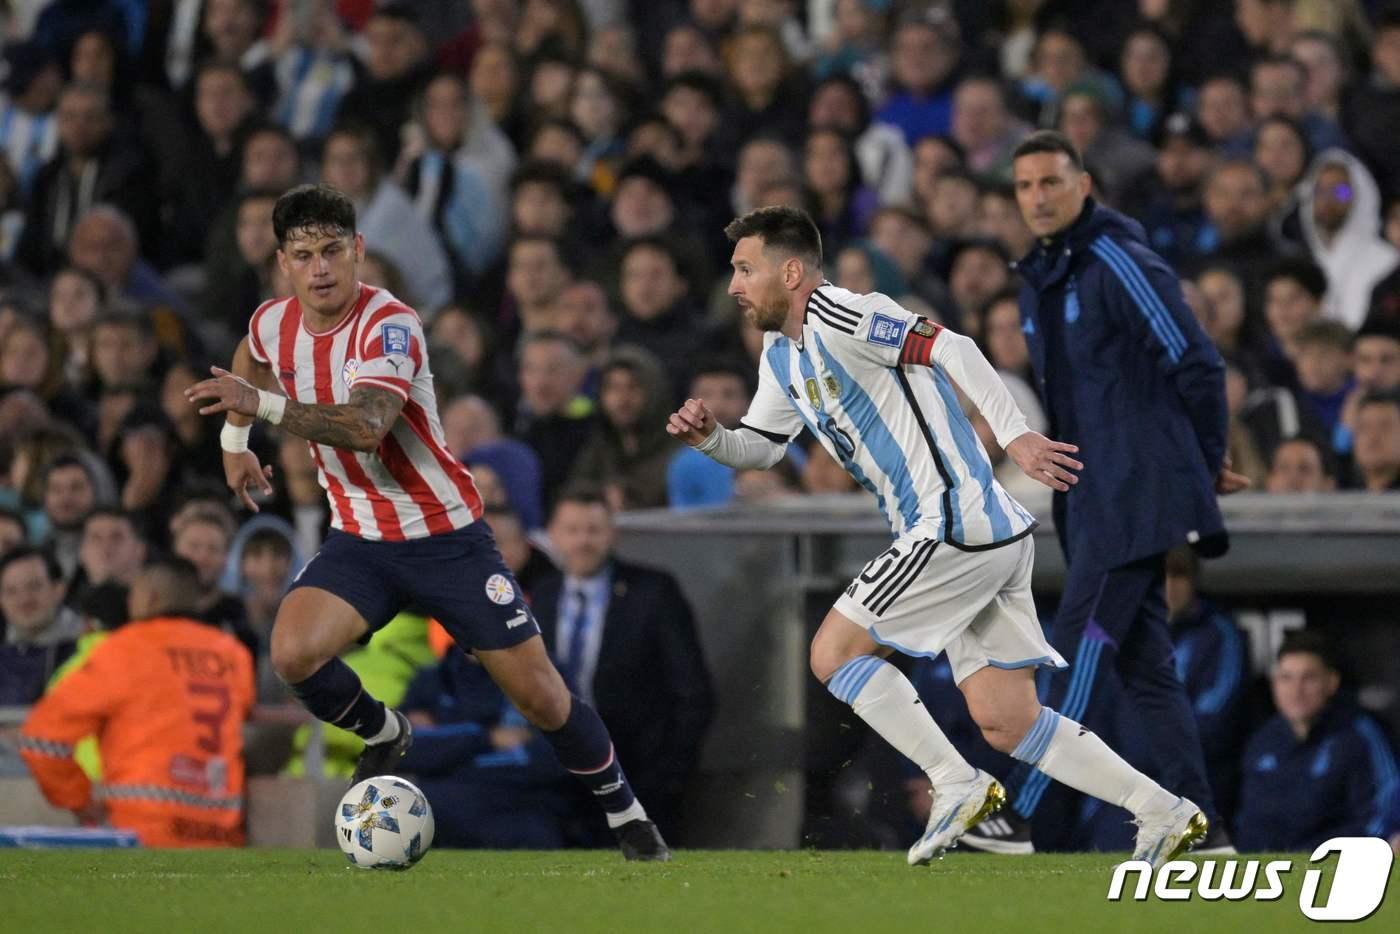
[[889,745],[909,756],[928,773],[934,787],[970,781],[977,777],[966,759],[938,728],[918,700],[918,693],[897,668],[876,658],[853,658],[832,675],[826,689],[848,703],[855,714]]

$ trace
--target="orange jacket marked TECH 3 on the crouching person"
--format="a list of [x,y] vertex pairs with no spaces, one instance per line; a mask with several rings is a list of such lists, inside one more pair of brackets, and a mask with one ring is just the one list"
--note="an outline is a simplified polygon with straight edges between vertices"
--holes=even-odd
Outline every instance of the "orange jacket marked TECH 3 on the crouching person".
[[[29,711],[20,752],[59,808],[102,801],[144,846],[244,843],[244,737],[253,660],[232,636],[189,619],[127,623]],[[104,783],[73,762],[98,738]]]

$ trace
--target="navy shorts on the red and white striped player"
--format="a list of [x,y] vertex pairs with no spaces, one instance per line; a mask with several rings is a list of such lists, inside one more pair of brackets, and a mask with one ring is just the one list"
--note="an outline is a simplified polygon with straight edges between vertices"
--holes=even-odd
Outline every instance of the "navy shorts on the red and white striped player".
[[423,613],[463,650],[510,648],[539,634],[519,584],[486,522],[407,542],[370,542],[330,529],[291,584],[346,601],[379,630],[398,613]]

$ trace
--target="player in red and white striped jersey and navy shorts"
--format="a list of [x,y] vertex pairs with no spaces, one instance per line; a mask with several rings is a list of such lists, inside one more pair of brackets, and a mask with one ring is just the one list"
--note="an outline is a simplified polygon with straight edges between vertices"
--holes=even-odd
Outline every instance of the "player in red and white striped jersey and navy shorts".
[[392,770],[412,742],[403,714],[365,693],[340,651],[405,608],[435,618],[553,745],[602,805],[627,858],[671,853],[637,801],[598,713],[554,669],[539,625],[482,521],[472,475],[442,438],[417,314],[357,267],[354,206],[302,185],[273,209],[277,263],[294,295],[253,312],[232,372],[188,391],[227,413],[228,486],[256,511],[272,468],[248,449],[255,419],[311,445],[332,531],[293,583],[272,632],[272,664],[307,709],[365,741],[354,780]]

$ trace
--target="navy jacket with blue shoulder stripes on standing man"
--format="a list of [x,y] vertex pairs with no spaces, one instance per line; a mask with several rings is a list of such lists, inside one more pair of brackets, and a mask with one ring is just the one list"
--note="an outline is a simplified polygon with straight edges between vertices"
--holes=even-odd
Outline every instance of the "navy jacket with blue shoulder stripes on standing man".
[[1065,557],[1107,570],[1182,543],[1224,553],[1225,364],[1142,227],[1089,199],[1016,269],[1049,434],[1084,462],[1054,496]]

